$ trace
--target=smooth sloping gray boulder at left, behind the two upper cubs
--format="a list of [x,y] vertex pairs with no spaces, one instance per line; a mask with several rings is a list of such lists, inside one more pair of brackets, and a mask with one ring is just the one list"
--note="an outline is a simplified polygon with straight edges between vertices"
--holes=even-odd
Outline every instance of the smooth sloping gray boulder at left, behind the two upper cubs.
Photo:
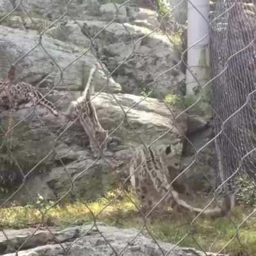
[[[5,79],[11,63],[20,59],[15,81],[31,84],[40,81],[42,88],[56,86],[58,90],[79,90],[83,87],[83,79],[86,83],[92,65],[97,63],[92,54],[81,56],[83,48],[73,47],[60,40],[43,36],[39,44],[40,37],[35,31],[26,33],[0,26],[0,34],[0,80]],[[101,90],[107,84],[107,77],[100,71],[96,77],[95,90]],[[120,92],[121,86],[109,79],[105,91]]]

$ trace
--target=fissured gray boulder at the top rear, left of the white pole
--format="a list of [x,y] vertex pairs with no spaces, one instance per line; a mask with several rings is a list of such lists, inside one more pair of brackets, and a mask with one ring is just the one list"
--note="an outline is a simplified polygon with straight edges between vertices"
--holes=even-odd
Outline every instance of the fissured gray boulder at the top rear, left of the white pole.
[[[118,19],[114,19],[116,7],[113,3],[98,6],[93,2],[98,6],[95,8],[99,8],[99,14],[95,14],[88,10],[88,6],[79,4],[78,0],[75,2],[77,6],[73,2],[70,3],[67,17],[75,17],[76,21],[67,18],[69,21],[63,26],[59,26],[57,22],[55,25],[58,28],[50,28],[45,35],[71,44],[72,50],[70,45],[65,44],[67,51],[75,51],[78,55],[81,53],[81,48],[90,47],[90,40],[81,33],[83,27],[86,35],[91,38],[97,35],[93,40],[95,51],[110,71],[124,61],[114,74],[115,81],[122,84],[122,92],[140,95],[141,92],[147,93],[154,86],[151,97],[163,98],[167,93],[180,93],[180,86],[185,78],[177,65],[180,61],[180,53],[173,42],[157,30],[160,24],[156,12],[117,4],[117,8],[120,9],[118,9]],[[67,3],[63,4],[62,1],[55,0],[49,5],[43,4],[41,9],[40,5],[42,5],[40,0],[36,0],[35,3],[26,1],[26,10],[31,10],[31,15],[35,18],[42,19],[48,14],[55,17],[56,14],[52,13],[64,13],[63,9]],[[33,15],[34,12],[36,15]],[[6,17],[3,24],[8,19],[11,17]],[[129,19],[133,21],[128,22]],[[47,18],[47,26],[50,26],[51,22],[52,19]],[[17,26],[17,22],[14,23]],[[9,24],[13,26],[13,20]],[[31,23],[26,19],[26,27],[35,27],[35,24],[36,20]],[[22,20],[19,20],[19,28],[22,28],[20,25]],[[55,43],[60,45],[58,41]],[[74,45],[77,45],[78,49]]]

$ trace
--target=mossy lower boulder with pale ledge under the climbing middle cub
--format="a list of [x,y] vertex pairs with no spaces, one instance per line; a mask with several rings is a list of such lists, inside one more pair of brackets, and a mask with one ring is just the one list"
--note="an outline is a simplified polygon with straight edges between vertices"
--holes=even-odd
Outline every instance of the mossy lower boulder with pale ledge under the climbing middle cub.
[[[68,192],[92,200],[104,195],[120,182],[120,175],[131,158],[134,147],[141,143],[172,143],[177,157],[182,154],[182,131],[186,131],[186,115],[173,119],[178,109],[170,110],[157,99],[144,99],[129,94],[100,93],[94,95],[93,104],[102,127],[120,139],[109,144],[109,156],[95,161],[79,122],[72,124],[64,115],[71,100],[79,92],[55,92],[49,100],[56,104],[59,116],[52,115],[42,106],[15,111],[12,124],[18,124],[10,140],[12,156],[22,168],[33,198],[40,194],[45,199],[56,199]],[[35,110],[35,111],[33,111]],[[173,114],[173,115],[172,115]],[[6,131],[9,112],[1,111],[1,127]],[[175,124],[174,124],[175,122]],[[166,133],[165,133],[166,132]],[[165,133],[165,134],[164,134]],[[164,136],[163,136],[164,135]],[[0,142],[6,138],[1,132]],[[6,147],[1,148],[0,160],[6,159]],[[10,159],[9,159],[10,161]],[[19,178],[19,168],[8,163],[0,167],[1,173]],[[18,175],[18,177],[17,177]],[[24,177],[20,177],[24,179]],[[26,187],[20,189],[13,200],[28,202]]]

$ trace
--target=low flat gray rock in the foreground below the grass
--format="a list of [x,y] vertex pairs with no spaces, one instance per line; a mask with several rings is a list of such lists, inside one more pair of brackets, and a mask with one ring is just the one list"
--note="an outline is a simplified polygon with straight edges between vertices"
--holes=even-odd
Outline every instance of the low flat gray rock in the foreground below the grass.
[[[28,228],[24,230],[4,230],[0,233],[0,253],[3,256],[15,256],[17,248],[19,256],[95,256],[95,255],[121,255],[123,256],[203,256],[194,248],[175,246],[171,243],[157,243],[150,237],[140,234],[134,228],[121,229],[109,227],[97,223],[97,226],[85,225],[70,227],[64,230],[51,228],[48,230],[36,230]],[[6,235],[6,236],[4,236]],[[7,239],[8,237],[8,239]],[[63,248],[69,248],[66,252]],[[208,256],[216,253],[206,252]],[[223,254],[218,253],[219,256]]]

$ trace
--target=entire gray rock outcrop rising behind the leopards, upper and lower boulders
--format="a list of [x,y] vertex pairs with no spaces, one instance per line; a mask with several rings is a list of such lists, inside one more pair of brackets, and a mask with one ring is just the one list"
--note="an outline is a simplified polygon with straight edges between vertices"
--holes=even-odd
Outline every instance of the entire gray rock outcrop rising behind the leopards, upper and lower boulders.
[[[97,0],[28,0],[12,12],[16,2],[0,0],[0,81],[6,77],[11,63],[19,60],[15,81],[31,83],[44,93],[51,90],[47,97],[56,104],[60,116],[55,118],[40,106],[35,113],[31,113],[32,108],[13,113],[14,124],[19,125],[10,134],[12,151],[23,174],[2,147],[2,177],[12,177],[15,184],[15,180],[24,180],[26,175],[31,195],[39,193],[45,199],[65,194],[73,181],[81,196],[93,200],[120,182],[116,174],[127,177],[125,164],[132,148],[142,141],[170,141],[180,159],[188,116],[182,114],[175,119],[179,113],[176,107],[168,109],[161,100],[134,95],[145,95],[154,88],[150,97],[163,99],[167,93],[179,93],[184,81],[179,51],[168,37],[159,33],[156,12],[138,8],[134,1],[119,5],[101,4]],[[56,24],[51,26],[54,21]],[[70,100],[80,96],[90,68],[98,60],[104,63],[106,74],[96,72],[93,85],[100,93],[93,97],[93,102],[104,129],[120,138],[121,143],[110,144],[109,157],[94,163],[81,125],[68,127],[70,121],[64,113]],[[113,70],[108,80],[106,75]],[[8,115],[8,111],[1,111],[4,129]],[[196,117],[189,125],[188,132],[193,133],[189,136],[198,145],[210,136],[206,132],[201,140],[199,133],[204,126]],[[184,166],[193,161],[195,150],[189,150]],[[205,163],[212,159],[207,157],[200,160],[199,170],[195,164],[191,167],[193,172],[188,173],[193,173],[195,179],[189,180],[203,180]],[[19,202],[28,200],[24,188],[15,196]]]

